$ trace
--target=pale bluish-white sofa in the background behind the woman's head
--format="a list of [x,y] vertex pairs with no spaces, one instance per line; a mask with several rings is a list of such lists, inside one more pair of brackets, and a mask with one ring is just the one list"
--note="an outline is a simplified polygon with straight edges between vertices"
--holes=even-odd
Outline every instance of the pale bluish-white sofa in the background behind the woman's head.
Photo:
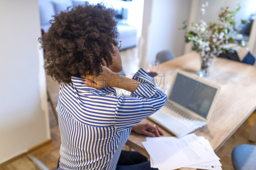
[[[84,4],[84,2],[85,1],[65,1],[65,3],[61,4],[54,1],[51,1],[51,2],[39,1],[38,5],[39,5],[39,11],[40,11],[41,28],[44,30],[44,32],[47,32],[49,27],[51,26],[49,21],[52,19],[52,15],[55,15],[56,13],[57,14],[60,13],[60,11],[65,10],[67,6],[76,6],[79,4]],[[120,11],[120,9],[118,10]],[[125,16],[123,16],[123,18],[125,19],[127,16],[127,12],[123,12],[123,13],[126,14]],[[120,50],[131,48],[137,45],[137,28],[136,27],[133,27],[128,24],[123,24],[123,22],[118,22],[117,29],[120,34],[118,40],[122,40],[122,46]]]

